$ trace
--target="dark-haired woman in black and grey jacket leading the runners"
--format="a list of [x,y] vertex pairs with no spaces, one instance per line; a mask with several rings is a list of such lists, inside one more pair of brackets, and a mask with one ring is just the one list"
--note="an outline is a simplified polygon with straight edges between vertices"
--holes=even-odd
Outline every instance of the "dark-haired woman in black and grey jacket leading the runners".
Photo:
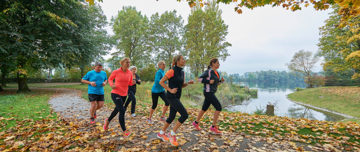
[[219,131],[219,129],[217,129],[216,127],[216,122],[222,109],[219,100],[217,100],[215,96],[215,92],[217,91],[217,86],[225,81],[224,77],[221,77],[220,80],[220,75],[216,71],[219,68],[219,66],[220,63],[219,60],[217,60],[217,58],[211,59],[209,65],[207,66],[207,70],[198,79],[199,82],[204,84],[203,92],[205,99],[204,99],[204,104],[201,110],[199,111],[198,117],[192,123],[192,125],[195,127],[196,130],[201,130],[201,128],[199,127],[199,121],[203,116],[203,114],[205,113],[205,111],[210,107],[210,104],[212,104],[216,111],[214,113],[214,119],[212,121],[212,126],[210,127],[210,131],[214,132],[215,134],[221,134],[221,131]]

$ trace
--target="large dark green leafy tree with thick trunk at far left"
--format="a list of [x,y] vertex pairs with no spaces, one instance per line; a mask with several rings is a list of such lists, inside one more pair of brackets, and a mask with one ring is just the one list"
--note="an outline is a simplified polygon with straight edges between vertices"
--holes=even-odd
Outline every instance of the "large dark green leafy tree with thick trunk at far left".
[[0,9],[0,70],[17,73],[19,91],[28,91],[28,73],[81,67],[109,49],[102,29],[107,22],[99,6],[72,0],[8,0]]

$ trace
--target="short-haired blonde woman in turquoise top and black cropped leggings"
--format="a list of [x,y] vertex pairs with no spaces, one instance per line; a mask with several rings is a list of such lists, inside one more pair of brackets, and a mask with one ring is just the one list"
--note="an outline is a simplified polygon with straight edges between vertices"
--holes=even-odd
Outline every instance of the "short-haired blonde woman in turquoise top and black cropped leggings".
[[165,67],[166,67],[165,61],[159,61],[158,62],[158,67],[159,67],[159,70],[155,74],[154,85],[153,85],[153,87],[151,89],[151,98],[153,100],[153,105],[150,108],[149,117],[148,117],[148,119],[146,119],[146,122],[148,122],[149,124],[154,124],[153,120],[151,119],[151,116],[153,115],[154,110],[157,107],[159,97],[165,103],[164,108],[162,109],[161,117],[159,118],[161,121],[165,122],[165,120],[166,120],[165,113],[166,113],[167,109],[169,108],[169,103],[166,100],[165,89],[159,84],[160,80],[165,75],[165,71],[164,71]]

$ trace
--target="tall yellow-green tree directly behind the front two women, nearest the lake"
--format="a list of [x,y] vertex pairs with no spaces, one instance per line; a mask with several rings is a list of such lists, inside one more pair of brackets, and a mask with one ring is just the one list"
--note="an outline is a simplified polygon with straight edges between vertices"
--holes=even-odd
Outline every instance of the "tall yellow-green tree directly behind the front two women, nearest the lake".
[[204,72],[211,58],[225,61],[230,56],[226,47],[231,46],[225,42],[228,34],[228,25],[221,19],[222,11],[216,1],[211,1],[203,11],[200,7],[194,7],[185,25],[185,46],[181,51],[186,57],[195,77]]

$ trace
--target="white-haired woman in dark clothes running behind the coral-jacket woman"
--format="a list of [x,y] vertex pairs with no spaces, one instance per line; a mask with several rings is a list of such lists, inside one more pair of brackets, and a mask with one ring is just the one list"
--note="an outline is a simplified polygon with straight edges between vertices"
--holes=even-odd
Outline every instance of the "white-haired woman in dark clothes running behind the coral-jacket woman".
[[[139,75],[135,74],[136,72],[138,72],[138,68],[136,68],[135,66],[131,66],[129,67],[129,70],[132,72],[132,80],[135,80],[136,84],[140,85],[140,77]],[[136,106],[136,98],[135,98],[135,93],[136,93],[136,84],[130,86],[129,85],[129,90],[127,90],[127,100],[125,102],[124,108],[126,111],[127,106],[130,104],[131,101],[131,117],[135,117],[135,106]],[[126,115],[126,112],[125,112]]]

